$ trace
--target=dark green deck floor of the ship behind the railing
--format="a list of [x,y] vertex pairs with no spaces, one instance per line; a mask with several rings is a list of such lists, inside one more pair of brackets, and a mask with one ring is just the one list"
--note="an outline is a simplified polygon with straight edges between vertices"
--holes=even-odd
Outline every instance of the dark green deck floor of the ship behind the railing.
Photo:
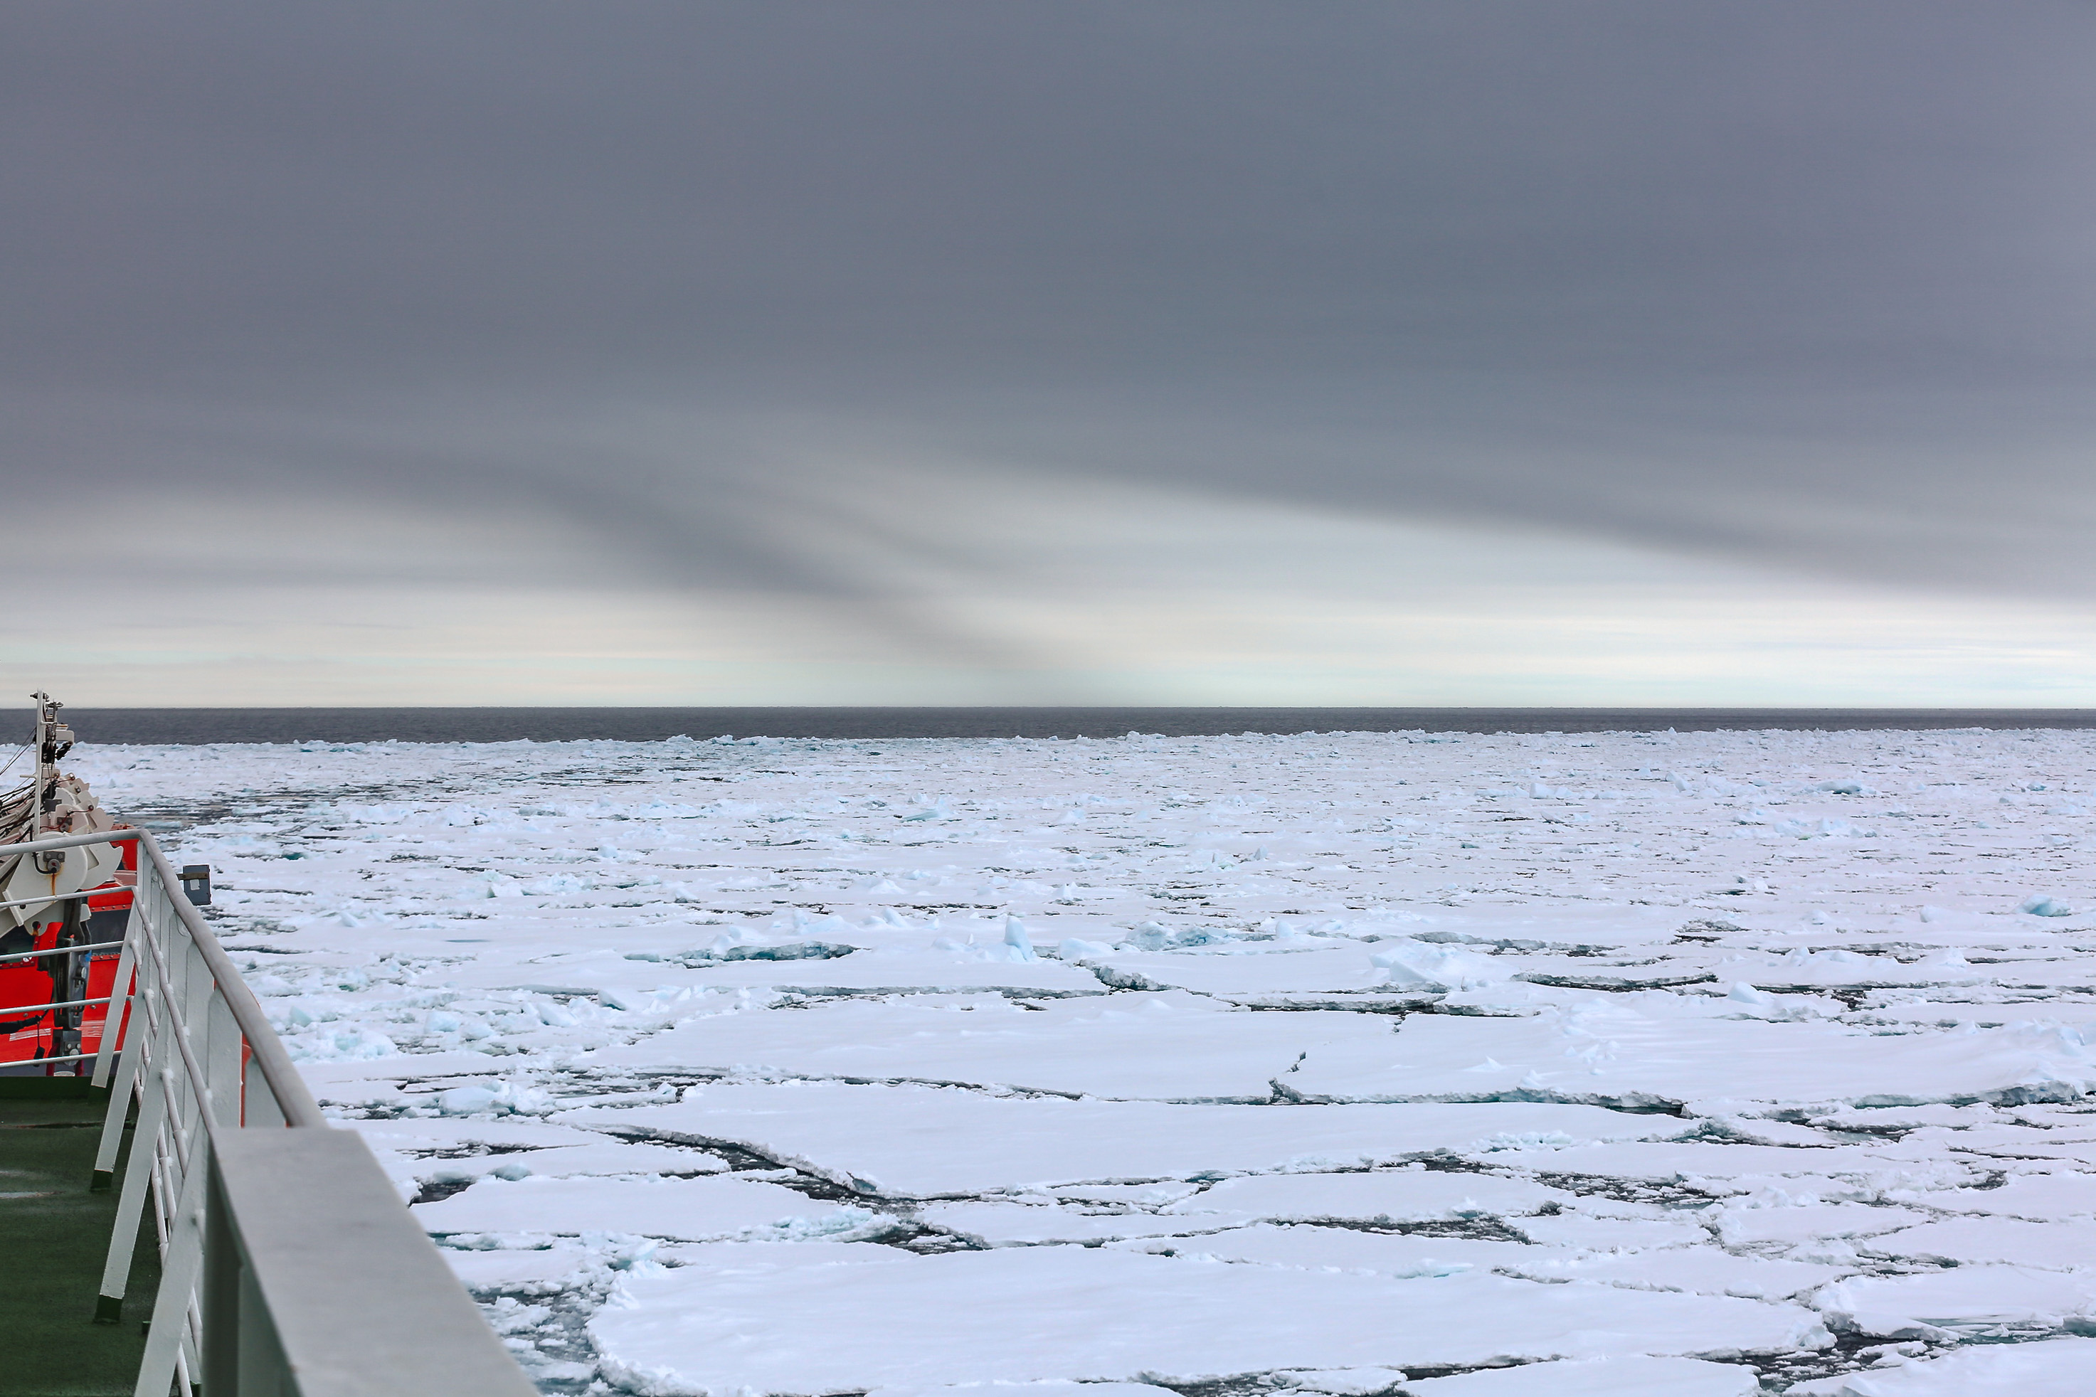
[[124,1322],[94,1324],[117,1211],[115,1192],[88,1192],[105,1102],[75,1079],[0,1077],[0,1397],[130,1397],[138,1378],[159,1284],[151,1223]]

